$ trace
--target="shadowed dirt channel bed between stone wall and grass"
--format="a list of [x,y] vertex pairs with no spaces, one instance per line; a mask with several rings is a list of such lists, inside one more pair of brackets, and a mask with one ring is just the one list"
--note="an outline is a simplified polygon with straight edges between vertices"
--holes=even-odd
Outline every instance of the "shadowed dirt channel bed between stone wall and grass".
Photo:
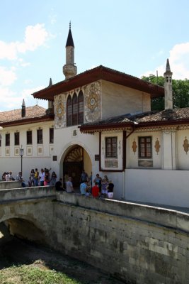
[[[77,261],[69,256],[47,249],[42,246],[31,244],[15,237],[0,241],[0,269],[11,265],[28,264],[39,266],[41,269],[53,269],[66,273],[82,284],[122,284],[110,275],[99,269]],[[1,271],[0,271],[1,273]]]

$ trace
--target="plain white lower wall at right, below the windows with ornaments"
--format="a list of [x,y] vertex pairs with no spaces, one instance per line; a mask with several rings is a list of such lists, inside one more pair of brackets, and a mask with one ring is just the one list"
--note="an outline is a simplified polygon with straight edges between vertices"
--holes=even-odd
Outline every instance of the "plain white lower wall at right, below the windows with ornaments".
[[188,170],[125,171],[125,199],[189,207]]

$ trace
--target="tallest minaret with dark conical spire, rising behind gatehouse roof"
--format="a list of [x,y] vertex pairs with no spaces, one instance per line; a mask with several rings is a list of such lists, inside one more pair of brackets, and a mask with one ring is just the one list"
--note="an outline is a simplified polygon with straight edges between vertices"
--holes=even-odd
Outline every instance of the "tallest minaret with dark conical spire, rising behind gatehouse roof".
[[66,44],[66,64],[63,66],[63,73],[66,80],[76,75],[77,68],[74,64],[74,40],[71,35],[71,23],[69,23],[69,33]]

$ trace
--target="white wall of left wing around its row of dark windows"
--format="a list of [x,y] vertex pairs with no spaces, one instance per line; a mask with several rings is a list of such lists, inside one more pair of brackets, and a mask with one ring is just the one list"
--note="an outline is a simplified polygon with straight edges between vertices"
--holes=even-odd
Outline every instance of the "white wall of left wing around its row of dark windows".
[[[52,148],[53,144],[50,144],[49,129],[53,126],[52,121],[46,121],[37,124],[28,124],[25,126],[13,126],[6,127],[2,131],[1,140],[1,155],[0,155],[0,178],[4,171],[12,171],[13,177],[21,171],[21,156],[15,154],[15,149],[23,146],[23,178],[28,182],[30,176],[30,170],[32,168],[52,168]],[[37,144],[37,129],[42,129],[43,143]],[[26,145],[26,131],[33,132],[33,144]],[[14,146],[14,133],[18,131],[20,133],[20,145]],[[5,133],[10,133],[10,146],[5,147]],[[38,152],[38,147],[42,148],[42,153]],[[6,149],[9,149],[10,155],[6,155]],[[31,153],[28,153],[30,148]],[[53,168],[52,168],[53,170]]]

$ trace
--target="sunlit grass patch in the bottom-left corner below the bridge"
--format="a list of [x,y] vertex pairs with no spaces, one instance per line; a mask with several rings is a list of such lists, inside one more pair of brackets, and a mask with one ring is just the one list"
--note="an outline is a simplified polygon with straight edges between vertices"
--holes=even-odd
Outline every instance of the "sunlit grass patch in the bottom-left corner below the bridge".
[[66,274],[33,265],[11,266],[0,271],[1,284],[80,284]]

